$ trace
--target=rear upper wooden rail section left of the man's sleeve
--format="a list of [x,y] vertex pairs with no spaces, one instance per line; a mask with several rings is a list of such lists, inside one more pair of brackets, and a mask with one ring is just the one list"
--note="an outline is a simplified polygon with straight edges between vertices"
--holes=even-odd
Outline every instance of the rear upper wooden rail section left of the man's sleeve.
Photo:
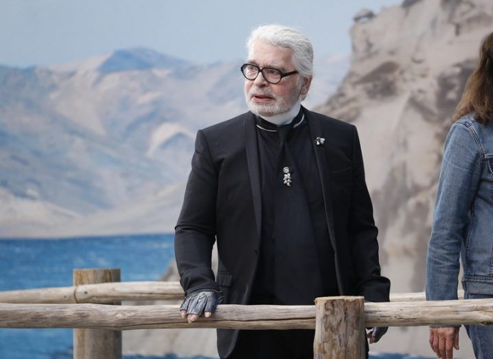
[[129,281],[0,292],[0,303],[70,304],[174,299],[183,299],[183,289],[177,281]]

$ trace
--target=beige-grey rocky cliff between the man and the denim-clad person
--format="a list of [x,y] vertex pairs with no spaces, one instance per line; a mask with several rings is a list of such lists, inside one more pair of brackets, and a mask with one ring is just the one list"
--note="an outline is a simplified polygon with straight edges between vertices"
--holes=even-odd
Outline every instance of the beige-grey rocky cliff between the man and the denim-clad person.
[[[349,71],[318,111],[357,126],[382,271],[393,292],[419,292],[444,140],[481,40],[493,31],[493,2],[406,0],[356,20]],[[376,348],[431,356],[420,330],[393,329],[395,340]],[[461,340],[458,356],[472,357],[468,345]]]

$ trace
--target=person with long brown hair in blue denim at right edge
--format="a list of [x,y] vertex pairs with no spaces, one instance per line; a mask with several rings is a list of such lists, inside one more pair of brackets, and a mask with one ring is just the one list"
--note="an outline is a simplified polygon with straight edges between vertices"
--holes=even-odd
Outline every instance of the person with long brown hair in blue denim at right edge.
[[[426,299],[493,298],[493,33],[481,45],[445,143],[426,258]],[[466,325],[476,358],[493,358],[493,326]],[[432,327],[439,358],[459,349],[459,327]]]

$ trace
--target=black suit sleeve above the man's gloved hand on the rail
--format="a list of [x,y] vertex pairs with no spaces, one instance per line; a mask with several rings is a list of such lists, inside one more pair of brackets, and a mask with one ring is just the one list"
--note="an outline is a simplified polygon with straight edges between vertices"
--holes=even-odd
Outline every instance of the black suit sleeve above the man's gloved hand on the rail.
[[217,182],[205,135],[199,130],[174,235],[176,264],[185,295],[205,288],[219,290],[211,268],[212,247],[216,240]]

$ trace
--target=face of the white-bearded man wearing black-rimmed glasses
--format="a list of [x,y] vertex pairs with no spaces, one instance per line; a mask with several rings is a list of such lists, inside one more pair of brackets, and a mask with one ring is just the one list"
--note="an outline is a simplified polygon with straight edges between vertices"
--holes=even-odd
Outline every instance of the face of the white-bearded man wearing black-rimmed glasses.
[[[285,47],[275,46],[257,41],[251,48],[249,64],[258,67],[274,67],[282,73],[294,71],[293,51]],[[311,78],[301,78],[299,73],[286,76],[277,84],[271,84],[259,73],[255,80],[244,82],[244,95],[251,112],[260,116],[273,116],[285,113],[306,95],[310,89]]]

